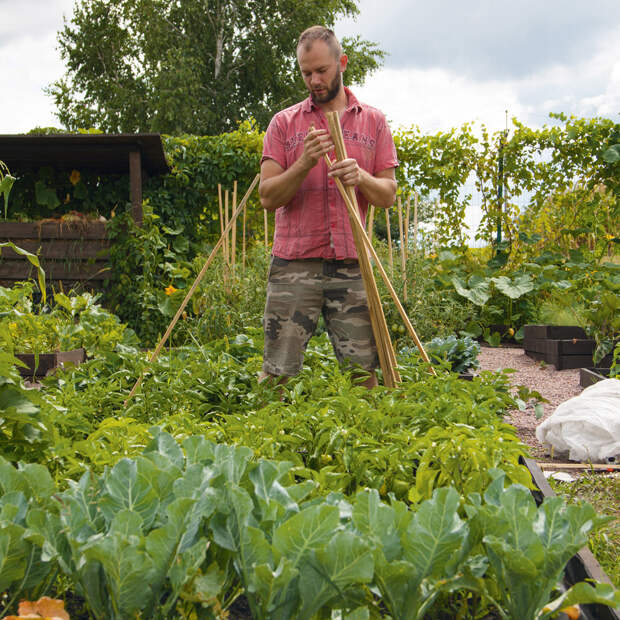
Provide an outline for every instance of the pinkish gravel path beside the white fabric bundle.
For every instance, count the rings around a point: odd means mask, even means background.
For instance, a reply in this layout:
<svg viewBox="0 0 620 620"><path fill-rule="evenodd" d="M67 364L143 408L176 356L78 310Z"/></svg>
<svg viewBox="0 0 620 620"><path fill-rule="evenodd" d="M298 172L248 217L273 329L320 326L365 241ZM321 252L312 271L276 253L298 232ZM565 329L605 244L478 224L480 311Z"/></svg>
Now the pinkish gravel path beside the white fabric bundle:
<svg viewBox="0 0 620 620"><path fill-rule="evenodd" d="M544 403L545 413L536 419L533 407L526 411L509 411L506 421L513 424L521 441L530 448L530 455L536 460L551 460L545 448L536 439L536 427L548 418L555 408L565 400L581 393L579 369L556 370L553 365L543 364L528 357L521 348L483 346L478 355L480 370L502 370L513 368L513 385L525 385L536 390L549 402Z"/></svg>

